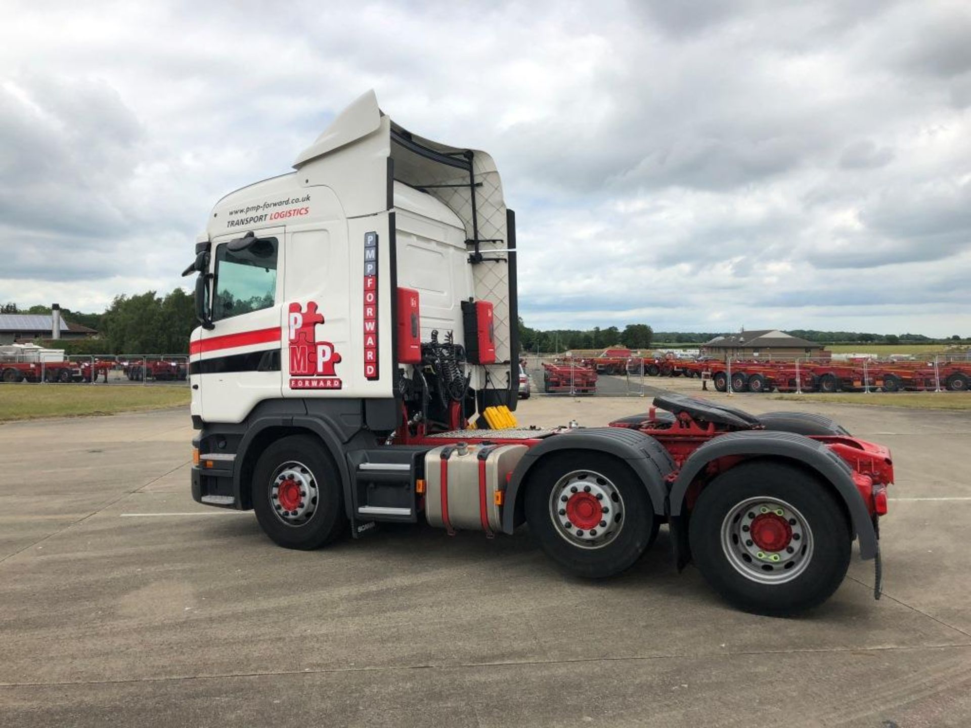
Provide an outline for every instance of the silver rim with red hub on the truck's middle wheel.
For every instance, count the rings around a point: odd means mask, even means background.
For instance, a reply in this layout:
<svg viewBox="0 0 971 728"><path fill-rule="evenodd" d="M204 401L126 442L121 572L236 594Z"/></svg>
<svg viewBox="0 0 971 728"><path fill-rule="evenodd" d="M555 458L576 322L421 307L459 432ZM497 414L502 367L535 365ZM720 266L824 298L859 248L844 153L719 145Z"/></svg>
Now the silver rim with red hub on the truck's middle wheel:
<svg viewBox="0 0 971 728"><path fill-rule="evenodd" d="M571 546L602 548L613 543L623 528L624 516L617 485L592 470L571 471L552 486L553 528Z"/></svg>

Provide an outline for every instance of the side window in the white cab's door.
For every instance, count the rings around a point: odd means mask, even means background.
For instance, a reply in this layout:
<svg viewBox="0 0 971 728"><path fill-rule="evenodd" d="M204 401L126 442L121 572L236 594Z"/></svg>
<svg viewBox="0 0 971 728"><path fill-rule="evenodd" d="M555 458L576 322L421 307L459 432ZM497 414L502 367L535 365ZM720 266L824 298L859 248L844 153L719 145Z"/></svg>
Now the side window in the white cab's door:
<svg viewBox="0 0 971 728"><path fill-rule="evenodd" d="M216 248L213 320L271 308L277 295L276 238L260 238L249 248Z"/></svg>

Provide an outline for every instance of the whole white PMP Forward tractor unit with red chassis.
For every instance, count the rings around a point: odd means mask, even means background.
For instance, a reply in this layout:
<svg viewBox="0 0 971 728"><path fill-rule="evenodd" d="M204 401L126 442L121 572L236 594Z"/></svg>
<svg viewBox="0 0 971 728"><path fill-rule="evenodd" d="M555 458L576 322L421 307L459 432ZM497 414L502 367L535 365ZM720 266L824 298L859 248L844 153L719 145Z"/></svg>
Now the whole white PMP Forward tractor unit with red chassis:
<svg viewBox="0 0 971 728"><path fill-rule="evenodd" d="M879 565L890 453L825 418L672 395L614 426L515 424L516 217L488 154L369 92L293 168L219 200L185 271L196 501L299 549L387 521L528 526L590 579L663 525L679 569L768 614L825 601L854 541Z"/></svg>

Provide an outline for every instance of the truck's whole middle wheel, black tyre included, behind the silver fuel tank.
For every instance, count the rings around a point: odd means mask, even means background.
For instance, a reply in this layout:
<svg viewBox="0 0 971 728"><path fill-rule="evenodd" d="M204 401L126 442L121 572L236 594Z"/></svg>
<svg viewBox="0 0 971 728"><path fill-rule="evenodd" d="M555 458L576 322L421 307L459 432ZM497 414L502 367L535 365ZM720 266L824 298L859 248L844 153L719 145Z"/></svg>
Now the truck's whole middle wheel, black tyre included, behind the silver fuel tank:
<svg viewBox="0 0 971 728"><path fill-rule="evenodd" d="M535 465L525 514L546 554L587 579L629 568L657 536L643 483L618 459L589 450L549 455Z"/></svg>

